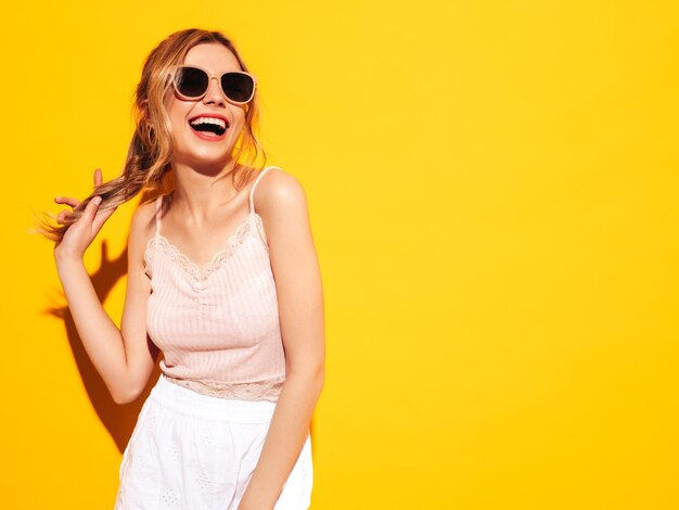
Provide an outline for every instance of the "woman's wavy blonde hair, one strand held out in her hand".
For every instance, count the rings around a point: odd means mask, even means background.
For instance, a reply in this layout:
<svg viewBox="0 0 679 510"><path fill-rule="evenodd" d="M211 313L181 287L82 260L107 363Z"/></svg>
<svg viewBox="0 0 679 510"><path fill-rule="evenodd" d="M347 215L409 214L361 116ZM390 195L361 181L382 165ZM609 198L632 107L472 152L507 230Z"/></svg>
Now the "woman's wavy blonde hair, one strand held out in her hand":
<svg viewBox="0 0 679 510"><path fill-rule="evenodd" d="M169 69L175 64L183 63L191 48L209 42L223 44L233 53L241 69L249 72L233 42L219 31L188 28L176 31L163 40L144 61L141 80L137 85L132 105L136 129L123 174L108 182L95 186L92 193L66 216L62 225L52 225L39 219L41 225L38 226L37 233L61 242L64 232L82 216L85 207L94 196L102 197L99 209L108 209L133 199L140 191L148 191L150 194L169 191L168 174L171 168L172 146L170 119L164 104L166 95L172 93ZM245 105L245 124L232 154L235 166L231 171L231 179L236 190L241 190L251 180L256 171L254 164L259 155L262 156L262 164L257 169L261 169L266 164L266 153L255 135L258 130L259 94L255 88L255 95ZM47 215L56 220L54 215L49 213Z"/></svg>

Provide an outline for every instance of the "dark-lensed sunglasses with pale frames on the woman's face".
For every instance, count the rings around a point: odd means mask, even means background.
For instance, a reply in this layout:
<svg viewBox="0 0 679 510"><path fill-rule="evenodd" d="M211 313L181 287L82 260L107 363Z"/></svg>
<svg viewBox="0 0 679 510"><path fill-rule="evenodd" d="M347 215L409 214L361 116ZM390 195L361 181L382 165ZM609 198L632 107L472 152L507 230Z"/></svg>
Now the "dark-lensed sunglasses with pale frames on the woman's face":
<svg viewBox="0 0 679 510"><path fill-rule="evenodd" d="M203 99L215 78L227 100L233 104L245 104L255 95L257 77L243 71L227 71L214 75L195 65L175 65L170 68L172 86L182 99L197 101Z"/></svg>

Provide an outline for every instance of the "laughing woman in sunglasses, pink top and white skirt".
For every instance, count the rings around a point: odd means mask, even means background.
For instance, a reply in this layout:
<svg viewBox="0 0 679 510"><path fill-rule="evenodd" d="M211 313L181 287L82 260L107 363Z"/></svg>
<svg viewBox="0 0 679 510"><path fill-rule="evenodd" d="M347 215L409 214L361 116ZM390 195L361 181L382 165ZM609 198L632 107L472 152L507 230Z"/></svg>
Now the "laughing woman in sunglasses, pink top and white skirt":
<svg viewBox="0 0 679 510"><path fill-rule="evenodd" d="M78 333L118 404L162 374L120 464L115 509L307 509L309 423L324 380L319 264L304 189L257 153L257 79L222 34L178 31L148 56L123 175L43 231ZM238 145L238 146L236 146ZM133 214L121 327L82 255Z"/></svg>

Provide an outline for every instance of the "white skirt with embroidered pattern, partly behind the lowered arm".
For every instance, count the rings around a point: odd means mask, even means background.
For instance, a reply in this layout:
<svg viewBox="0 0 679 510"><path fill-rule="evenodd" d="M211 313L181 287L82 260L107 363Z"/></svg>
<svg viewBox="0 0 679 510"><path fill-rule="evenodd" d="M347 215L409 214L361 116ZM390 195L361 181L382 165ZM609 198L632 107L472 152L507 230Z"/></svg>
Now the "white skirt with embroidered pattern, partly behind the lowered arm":
<svg viewBox="0 0 679 510"><path fill-rule="evenodd" d="M123 454L114 510L236 510L274 408L203 395L161 374ZM312 485L309 435L274 510L308 509Z"/></svg>

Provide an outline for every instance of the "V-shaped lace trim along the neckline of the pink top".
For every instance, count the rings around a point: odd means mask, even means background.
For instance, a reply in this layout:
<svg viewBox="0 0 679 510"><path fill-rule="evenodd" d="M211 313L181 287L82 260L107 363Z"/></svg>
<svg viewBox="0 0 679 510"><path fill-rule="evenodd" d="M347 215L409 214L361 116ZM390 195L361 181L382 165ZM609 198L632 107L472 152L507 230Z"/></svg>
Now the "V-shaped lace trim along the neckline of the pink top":
<svg viewBox="0 0 679 510"><path fill-rule="evenodd" d="M251 231L251 219L256 220L256 229L261 234L264 240L262 245L268 252L268 244L266 233L261 227L261 217L251 212L247 214L245 221L243 221L235 231L227 239L223 247L217 251L210 258L210 260L203 266L191 260L185 254L183 254L175 244L172 244L165 235L156 232L146 244L146 251L144 252L144 260L149 263L153 258L153 247L161 248L163 253L168 255L169 259L181 267L185 272L196 280L204 281L217 269L219 269L229 258L235 248L239 247ZM155 245L155 246L154 246Z"/></svg>

